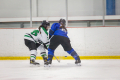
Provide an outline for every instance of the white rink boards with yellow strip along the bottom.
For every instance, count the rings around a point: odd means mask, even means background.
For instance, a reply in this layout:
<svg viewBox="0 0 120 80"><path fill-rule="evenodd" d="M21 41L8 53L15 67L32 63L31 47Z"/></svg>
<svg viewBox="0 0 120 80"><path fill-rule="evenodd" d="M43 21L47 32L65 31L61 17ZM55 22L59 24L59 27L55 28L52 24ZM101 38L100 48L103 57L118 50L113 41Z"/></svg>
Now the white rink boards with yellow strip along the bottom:
<svg viewBox="0 0 120 80"><path fill-rule="evenodd" d="M81 59L120 59L120 27L67 29L71 45ZM24 34L32 30L33 28L0 29L0 60L29 59L30 52L24 45ZM61 46L56 49L55 56L73 59ZM42 59L40 51L37 59Z"/></svg>

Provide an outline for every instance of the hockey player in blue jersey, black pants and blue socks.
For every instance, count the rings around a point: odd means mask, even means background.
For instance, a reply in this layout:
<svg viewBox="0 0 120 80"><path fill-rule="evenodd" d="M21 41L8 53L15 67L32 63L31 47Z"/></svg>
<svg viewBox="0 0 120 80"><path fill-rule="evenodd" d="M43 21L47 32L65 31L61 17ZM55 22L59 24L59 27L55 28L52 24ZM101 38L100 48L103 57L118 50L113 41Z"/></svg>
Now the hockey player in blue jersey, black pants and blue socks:
<svg viewBox="0 0 120 80"><path fill-rule="evenodd" d="M55 49L61 44L64 50L75 59L75 64L81 65L79 55L71 47L65 19L60 19L59 23L54 23L49 31L50 45L48 48L48 65L52 63Z"/></svg>

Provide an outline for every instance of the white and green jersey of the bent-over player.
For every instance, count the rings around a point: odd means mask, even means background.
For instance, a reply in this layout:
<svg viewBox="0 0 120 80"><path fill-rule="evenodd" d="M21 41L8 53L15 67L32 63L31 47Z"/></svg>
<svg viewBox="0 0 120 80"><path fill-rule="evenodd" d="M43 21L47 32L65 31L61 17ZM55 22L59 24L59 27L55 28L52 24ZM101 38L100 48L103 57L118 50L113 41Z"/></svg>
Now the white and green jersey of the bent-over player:
<svg viewBox="0 0 120 80"><path fill-rule="evenodd" d="M40 34L40 32L41 32L41 34ZM39 31L39 29L35 29L31 33L26 33L24 35L24 39L33 41L35 43L41 41L42 43L45 43L46 45L47 45L47 43L49 43L48 32L43 27L41 27L40 31Z"/></svg>

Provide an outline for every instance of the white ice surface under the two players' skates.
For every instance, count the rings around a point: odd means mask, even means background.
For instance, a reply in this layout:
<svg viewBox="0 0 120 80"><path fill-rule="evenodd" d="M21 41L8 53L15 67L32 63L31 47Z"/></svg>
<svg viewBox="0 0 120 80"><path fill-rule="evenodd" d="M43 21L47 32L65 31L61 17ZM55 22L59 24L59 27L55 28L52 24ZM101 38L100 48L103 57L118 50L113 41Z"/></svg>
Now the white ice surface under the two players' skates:
<svg viewBox="0 0 120 80"><path fill-rule="evenodd" d="M0 80L120 80L120 59L53 60L51 67L30 66L29 60L0 60Z"/></svg>

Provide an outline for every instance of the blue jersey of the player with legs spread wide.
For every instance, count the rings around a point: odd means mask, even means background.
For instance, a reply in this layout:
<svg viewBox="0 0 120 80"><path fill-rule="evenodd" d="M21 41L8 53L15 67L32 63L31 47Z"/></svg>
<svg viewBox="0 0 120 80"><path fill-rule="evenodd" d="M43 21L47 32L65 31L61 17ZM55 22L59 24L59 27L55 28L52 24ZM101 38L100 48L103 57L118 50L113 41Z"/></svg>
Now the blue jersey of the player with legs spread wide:
<svg viewBox="0 0 120 80"><path fill-rule="evenodd" d="M60 24L59 23L54 23L52 26L51 26L51 29L49 31L49 35L52 36L52 35L59 35L59 36L64 36L64 37L67 37L67 31L65 29L62 29L60 28Z"/></svg>

